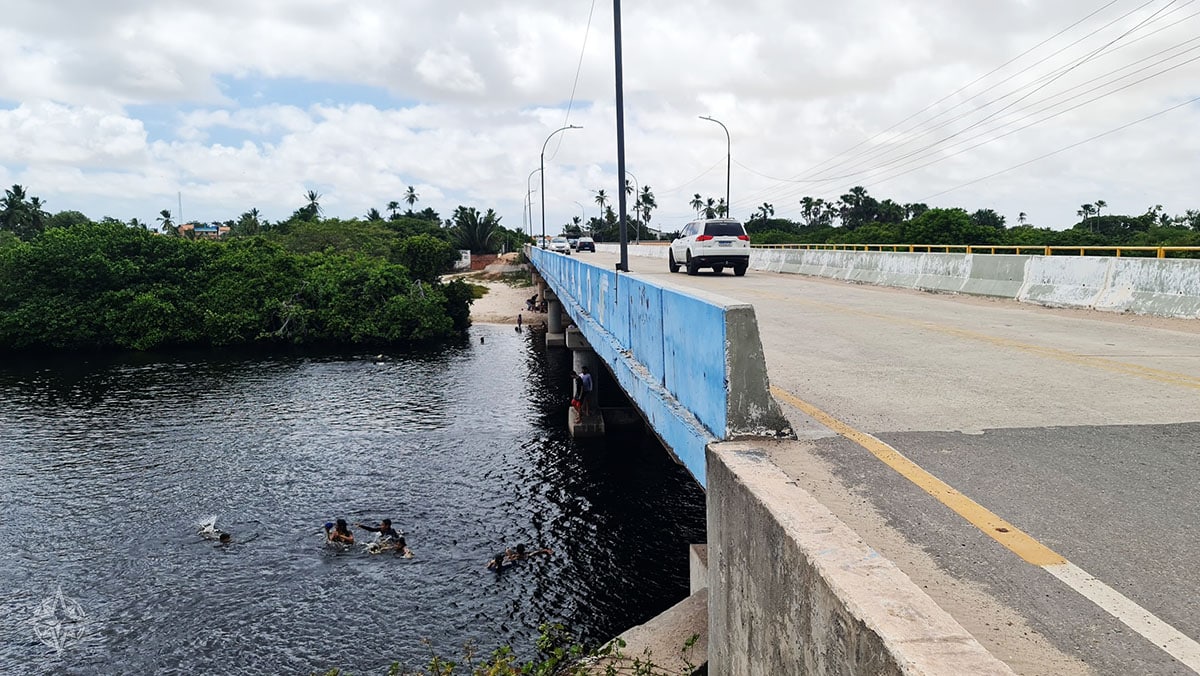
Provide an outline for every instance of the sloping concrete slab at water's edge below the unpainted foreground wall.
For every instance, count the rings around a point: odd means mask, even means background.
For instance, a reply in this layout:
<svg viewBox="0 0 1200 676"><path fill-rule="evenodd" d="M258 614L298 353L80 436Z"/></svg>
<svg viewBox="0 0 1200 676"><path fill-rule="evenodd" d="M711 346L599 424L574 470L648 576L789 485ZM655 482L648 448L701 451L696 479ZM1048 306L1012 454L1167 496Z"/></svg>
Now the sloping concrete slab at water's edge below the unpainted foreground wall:
<svg viewBox="0 0 1200 676"><path fill-rule="evenodd" d="M708 590L700 590L619 639L625 641L622 654L654 663L655 674L691 674L708 660ZM694 642L689 646L689 641ZM600 662L593 672L604 674L607 664L629 666L628 658Z"/></svg>

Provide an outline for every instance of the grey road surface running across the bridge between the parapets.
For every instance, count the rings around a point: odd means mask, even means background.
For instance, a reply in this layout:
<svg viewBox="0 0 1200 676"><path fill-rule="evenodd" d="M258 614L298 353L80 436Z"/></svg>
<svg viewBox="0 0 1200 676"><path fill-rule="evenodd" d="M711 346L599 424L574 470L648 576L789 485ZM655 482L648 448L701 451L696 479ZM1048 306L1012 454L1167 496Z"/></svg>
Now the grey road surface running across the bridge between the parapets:
<svg viewBox="0 0 1200 676"><path fill-rule="evenodd" d="M1200 321L630 269L755 306L775 462L1014 670L1200 670Z"/></svg>

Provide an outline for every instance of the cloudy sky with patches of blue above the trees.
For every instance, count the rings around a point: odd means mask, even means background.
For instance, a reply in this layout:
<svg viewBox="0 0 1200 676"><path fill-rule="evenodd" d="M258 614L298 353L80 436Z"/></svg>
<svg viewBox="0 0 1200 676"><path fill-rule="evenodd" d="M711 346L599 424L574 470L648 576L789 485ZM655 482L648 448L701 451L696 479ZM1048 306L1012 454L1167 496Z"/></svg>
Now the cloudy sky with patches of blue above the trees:
<svg viewBox="0 0 1200 676"><path fill-rule="evenodd" d="M617 191L607 0L0 0L0 185L152 222L402 199L547 232ZM622 7L625 157L677 229L803 196L1069 227L1200 209L1195 0L677 0ZM1122 128L1123 127L1123 128ZM535 231L540 193L533 195Z"/></svg>

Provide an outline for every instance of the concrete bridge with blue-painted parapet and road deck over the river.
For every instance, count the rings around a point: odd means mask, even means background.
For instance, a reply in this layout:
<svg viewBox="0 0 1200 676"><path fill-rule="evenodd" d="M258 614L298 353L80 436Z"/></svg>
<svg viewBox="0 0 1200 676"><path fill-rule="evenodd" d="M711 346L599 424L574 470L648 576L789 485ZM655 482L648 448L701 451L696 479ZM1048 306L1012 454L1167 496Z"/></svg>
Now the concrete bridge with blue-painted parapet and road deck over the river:
<svg viewBox="0 0 1200 676"><path fill-rule="evenodd" d="M1200 322L1009 300L1195 317L1200 264L530 253L706 485L712 672L1200 671Z"/></svg>

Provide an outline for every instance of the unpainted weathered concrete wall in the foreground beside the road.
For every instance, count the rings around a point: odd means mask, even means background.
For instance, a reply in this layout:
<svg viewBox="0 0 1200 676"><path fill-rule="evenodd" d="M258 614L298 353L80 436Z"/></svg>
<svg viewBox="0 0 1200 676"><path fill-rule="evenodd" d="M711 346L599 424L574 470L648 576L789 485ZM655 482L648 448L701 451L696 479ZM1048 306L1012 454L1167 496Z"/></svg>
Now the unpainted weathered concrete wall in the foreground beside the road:
<svg viewBox="0 0 1200 676"><path fill-rule="evenodd" d="M712 674L1013 674L764 453L708 463Z"/></svg>

